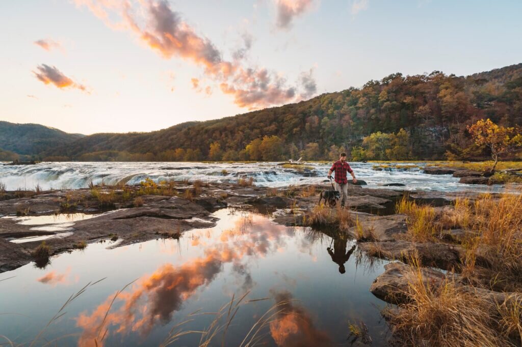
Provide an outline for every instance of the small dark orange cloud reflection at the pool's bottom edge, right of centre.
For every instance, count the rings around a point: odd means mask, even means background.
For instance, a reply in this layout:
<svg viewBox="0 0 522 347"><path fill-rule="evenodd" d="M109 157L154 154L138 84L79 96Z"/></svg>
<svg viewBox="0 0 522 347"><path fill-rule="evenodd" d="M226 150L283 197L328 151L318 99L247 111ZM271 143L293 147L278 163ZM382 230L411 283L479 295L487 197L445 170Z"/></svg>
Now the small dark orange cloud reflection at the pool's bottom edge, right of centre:
<svg viewBox="0 0 522 347"><path fill-rule="evenodd" d="M326 332L317 329L310 313L292 301L287 291L275 292L281 312L270 322L270 334L278 346L328 346L331 340Z"/></svg>

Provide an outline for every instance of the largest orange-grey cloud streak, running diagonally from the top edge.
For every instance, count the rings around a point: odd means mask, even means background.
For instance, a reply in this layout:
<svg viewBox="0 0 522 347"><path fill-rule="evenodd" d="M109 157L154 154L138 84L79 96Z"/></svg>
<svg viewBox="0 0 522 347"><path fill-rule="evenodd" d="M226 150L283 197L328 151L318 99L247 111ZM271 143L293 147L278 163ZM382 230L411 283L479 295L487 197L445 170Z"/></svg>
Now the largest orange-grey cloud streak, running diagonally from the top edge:
<svg viewBox="0 0 522 347"><path fill-rule="evenodd" d="M246 51L235 54L231 61L224 59L216 45L189 26L165 0L75 2L87 6L110 28L135 33L161 57L182 58L203 67L205 77L217 83L224 93L232 95L234 103L240 107L256 109L295 99L297 88L288 86L285 78L263 67L246 66ZM307 6L303 3L295 7L294 15ZM244 48L250 49L251 44L252 38L245 36Z"/></svg>

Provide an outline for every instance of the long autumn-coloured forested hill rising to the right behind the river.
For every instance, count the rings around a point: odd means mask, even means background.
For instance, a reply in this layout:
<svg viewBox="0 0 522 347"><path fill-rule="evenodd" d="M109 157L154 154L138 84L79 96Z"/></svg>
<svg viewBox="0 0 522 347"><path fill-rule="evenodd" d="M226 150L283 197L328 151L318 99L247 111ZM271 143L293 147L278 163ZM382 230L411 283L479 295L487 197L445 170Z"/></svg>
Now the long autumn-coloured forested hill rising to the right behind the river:
<svg viewBox="0 0 522 347"><path fill-rule="evenodd" d="M89 135L42 155L75 160L278 160L300 155L322 159L344 149L359 159L464 158L480 154L470 146L466 126L481 118L505 126L522 124L522 64L467 77L441 71L394 73L360 89L238 116L150 133Z"/></svg>

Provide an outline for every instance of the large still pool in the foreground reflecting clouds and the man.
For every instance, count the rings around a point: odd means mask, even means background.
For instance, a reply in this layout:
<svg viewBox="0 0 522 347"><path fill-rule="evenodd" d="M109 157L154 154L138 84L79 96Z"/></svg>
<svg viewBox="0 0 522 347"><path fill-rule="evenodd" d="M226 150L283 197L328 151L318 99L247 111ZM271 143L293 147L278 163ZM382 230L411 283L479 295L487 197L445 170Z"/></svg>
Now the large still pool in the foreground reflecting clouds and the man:
<svg viewBox="0 0 522 347"><path fill-rule="evenodd" d="M222 209L213 216L217 226L185 232L179 240L110 250L108 243L94 243L53 257L44 269L30 264L0 274L0 334L15 344L31 341L71 294L105 278L67 305L40 342L62 338L63 345L93 345L102 327L100 346L160 345L176 324L190 320L173 331L209 327L232 296L248 293L224 345L240 345L278 304L284 309L256 335L259 344L346 345L348 323L355 320L366 324L373 345L386 344L379 311L385 303L369 292L386 262L366 258L335 233L276 225L251 211ZM1 314L10 312L16 315ZM222 332L211 345L221 345ZM200 334L191 333L176 345L199 341Z"/></svg>

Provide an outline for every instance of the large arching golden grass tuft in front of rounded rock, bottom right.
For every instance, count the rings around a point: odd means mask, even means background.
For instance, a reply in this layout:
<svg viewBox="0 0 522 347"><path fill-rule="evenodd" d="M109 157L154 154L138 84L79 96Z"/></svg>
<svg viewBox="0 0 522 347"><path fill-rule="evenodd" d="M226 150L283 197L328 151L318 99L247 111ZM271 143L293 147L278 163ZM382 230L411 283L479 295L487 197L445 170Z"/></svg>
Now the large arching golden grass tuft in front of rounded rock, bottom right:
<svg viewBox="0 0 522 347"><path fill-rule="evenodd" d="M495 331L487 299L449 279L432 286L423 278L418 261L407 275L407 290L397 293L406 296L407 303L385 309L394 338L402 345L505 345Z"/></svg>

